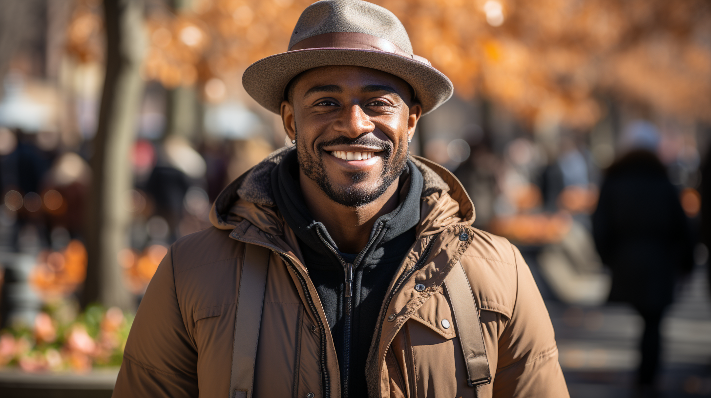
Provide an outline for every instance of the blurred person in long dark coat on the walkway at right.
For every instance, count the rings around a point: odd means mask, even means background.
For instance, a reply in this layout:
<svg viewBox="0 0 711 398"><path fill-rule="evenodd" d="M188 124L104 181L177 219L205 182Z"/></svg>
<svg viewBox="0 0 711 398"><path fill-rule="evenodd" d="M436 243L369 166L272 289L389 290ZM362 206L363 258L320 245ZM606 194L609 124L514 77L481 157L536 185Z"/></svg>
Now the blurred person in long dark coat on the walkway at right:
<svg viewBox="0 0 711 398"><path fill-rule="evenodd" d="M638 383L653 384L665 308L678 276L693 267L687 217L655 154L636 149L610 166L592 226L602 262L612 271L609 301L631 304L644 320Z"/></svg>

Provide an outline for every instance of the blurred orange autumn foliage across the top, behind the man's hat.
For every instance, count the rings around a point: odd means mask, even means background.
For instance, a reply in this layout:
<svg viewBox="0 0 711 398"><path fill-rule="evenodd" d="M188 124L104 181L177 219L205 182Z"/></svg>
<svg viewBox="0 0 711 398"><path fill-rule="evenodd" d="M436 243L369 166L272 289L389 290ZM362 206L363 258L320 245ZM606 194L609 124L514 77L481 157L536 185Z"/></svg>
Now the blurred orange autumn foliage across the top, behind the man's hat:
<svg viewBox="0 0 711 398"><path fill-rule="evenodd" d="M95 19L79 11L69 50L90 58ZM311 0L193 0L147 17L144 75L166 87L239 74L287 48ZM400 18L415 53L532 124L590 127L600 99L711 120L711 4L704 0L374 0ZM85 40L87 45L80 44Z"/></svg>

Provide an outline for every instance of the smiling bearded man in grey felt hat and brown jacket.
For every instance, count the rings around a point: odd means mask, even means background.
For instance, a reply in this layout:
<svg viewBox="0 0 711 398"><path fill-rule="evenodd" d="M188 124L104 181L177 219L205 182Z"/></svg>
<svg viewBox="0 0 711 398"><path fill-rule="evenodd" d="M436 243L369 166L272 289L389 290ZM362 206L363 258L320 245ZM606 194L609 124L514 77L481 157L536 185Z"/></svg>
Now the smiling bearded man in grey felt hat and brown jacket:
<svg viewBox="0 0 711 398"><path fill-rule="evenodd" d="M471 227L451 173L409 156L452 86L390 11L319 1L242 82L296 149L173 244L114 397L568 396L520 253Z"/></svg>

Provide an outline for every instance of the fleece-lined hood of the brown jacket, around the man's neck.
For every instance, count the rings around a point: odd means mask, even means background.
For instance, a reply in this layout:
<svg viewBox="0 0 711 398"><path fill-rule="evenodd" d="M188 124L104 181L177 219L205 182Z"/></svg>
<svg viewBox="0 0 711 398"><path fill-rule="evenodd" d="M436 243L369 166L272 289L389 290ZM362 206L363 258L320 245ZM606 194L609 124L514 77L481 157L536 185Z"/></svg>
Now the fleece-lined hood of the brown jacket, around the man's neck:
<svg viewBox="0 0 711 398"><path fill-rule="evenodd" d="M270 235L293 235L279 214L271 183L272 170L292 150L293 147L277 149L227 185L210 209L210 222L220 230L232 230L247 220ZM424 179L417 235L433 235L456 223L470 226L474 222L474 204L454 175L425 158L410 156L410 160ZM286 240L291 243L292 239L287 236Z"/></svg>

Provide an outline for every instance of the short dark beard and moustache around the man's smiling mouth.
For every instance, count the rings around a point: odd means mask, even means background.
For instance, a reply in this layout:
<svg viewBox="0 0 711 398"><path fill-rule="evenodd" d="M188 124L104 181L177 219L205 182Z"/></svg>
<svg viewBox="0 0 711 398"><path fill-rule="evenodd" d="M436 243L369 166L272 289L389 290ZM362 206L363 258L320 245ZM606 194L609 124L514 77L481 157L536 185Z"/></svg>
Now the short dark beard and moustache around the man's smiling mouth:
<svg viewBox="0 0 711 398"><path fill-rule="evenodd" d="M296 131L298 134L298 131ZM331 181L326 174L323 156L325 152L323 148L329 145L365 145L375 146L382 149L380 152L380 160L383 162L383 171L378 176L378 185L375 188L361 188L358 186L363 178L368 177L365 172L350 173L351 185L341 187ZM319 185L324 193L334 202L357 208L362 205L367 205L373 200L380 198L387 188L400 177L405 167L407 166L407 156L410 154L410 148L407 146L406 139L402 139L399 143L397 152L393 153L393 145L390 141L383 141L373 136L360 136L355 139L349 139L345 136L340 136L331 141L321 142L316 145L316 154L310 154L306 143L296 139L296 156L299 159L299 167L301 171L312 181Z"/></svg>

